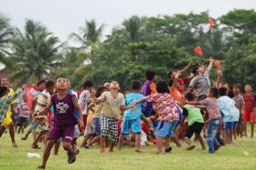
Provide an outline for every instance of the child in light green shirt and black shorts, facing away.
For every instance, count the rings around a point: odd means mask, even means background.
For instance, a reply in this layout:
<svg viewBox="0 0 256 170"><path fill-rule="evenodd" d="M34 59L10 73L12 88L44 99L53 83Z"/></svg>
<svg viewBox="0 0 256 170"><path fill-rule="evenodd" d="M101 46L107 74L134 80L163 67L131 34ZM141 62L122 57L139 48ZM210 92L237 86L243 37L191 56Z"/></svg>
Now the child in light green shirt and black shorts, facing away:
<svg viewBox="0 0 256 170"><path fill-rule="evenodd" d="M193 93L187 93L185 97L187 99L187 102L195 101L195 95ZM203 113L204 112L200 108L197 108L194 105L184 105L184 108L183 108L184 118L182 120L182 123L187 117L188 129L185 135L185 142L188 145L187 150L192 150L196 147L196 145L192 145L190 141L190 138L194 134L196 134L196 137L199 140L200 145L202 146L202 149L203 150L206 149L204 140L200 135L202 128L204 126L204 119L202 116Z"/></svg>

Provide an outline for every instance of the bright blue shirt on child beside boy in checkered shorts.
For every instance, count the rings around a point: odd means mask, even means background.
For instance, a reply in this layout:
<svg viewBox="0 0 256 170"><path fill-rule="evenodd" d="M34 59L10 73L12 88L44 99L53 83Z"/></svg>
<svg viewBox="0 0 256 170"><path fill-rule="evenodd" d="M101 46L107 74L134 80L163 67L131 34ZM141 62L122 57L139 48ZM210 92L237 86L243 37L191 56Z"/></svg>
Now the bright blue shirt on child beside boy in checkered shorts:
<svg viewBox="0 0 256 170"><path fill-rule="evenodd" d="M139 93L131 93L131 94L126 96L125 105L133 105L133 102L135 100L139 100L141 98L144 98L144 95L141 95ZM145 102L144 102L144 103L136 105L136 110L135 111L132 111L130 109L125 110L124 118L126 118L126 119L137 119L138 117L141 116L142 109L145 106L146 105L145 105Z"/></svg>

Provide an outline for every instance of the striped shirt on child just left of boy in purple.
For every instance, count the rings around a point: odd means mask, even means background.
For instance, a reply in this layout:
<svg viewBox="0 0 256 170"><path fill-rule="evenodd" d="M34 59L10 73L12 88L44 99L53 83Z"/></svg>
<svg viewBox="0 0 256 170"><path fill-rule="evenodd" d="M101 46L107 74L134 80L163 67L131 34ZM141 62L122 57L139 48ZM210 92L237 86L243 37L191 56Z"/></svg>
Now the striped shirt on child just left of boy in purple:
<svg viewBox="0 0 256 170"><path fill-rule="evenodd" d="M50 95L48 91L44 90L39 95L37 95L37 105L35 107L35 112L38 113L42 111L50 102Z"/></svg>

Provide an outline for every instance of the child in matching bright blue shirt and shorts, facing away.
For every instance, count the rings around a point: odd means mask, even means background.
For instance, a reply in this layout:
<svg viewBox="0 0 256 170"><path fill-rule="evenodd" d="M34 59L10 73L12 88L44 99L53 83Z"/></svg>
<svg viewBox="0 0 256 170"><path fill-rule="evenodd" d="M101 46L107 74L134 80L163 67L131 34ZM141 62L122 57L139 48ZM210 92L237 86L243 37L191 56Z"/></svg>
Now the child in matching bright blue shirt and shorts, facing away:
<svg viewBox="0 0 256 170"><path fill-rule="evenodd" d="M132 90L133 92L126 95L125 105L133 105L133 102L144 98L144 95L140 94L141 84L138 80L133 80ZM126 110L123 116L123 124L121 134L119 136L118 149L121 150L123 146L123 139L125 135L129 135L129 129L132 128L133 134L135 134L135 151L141 152L141 113L145 102L142 104L135 105L136 110Z"/></svg>

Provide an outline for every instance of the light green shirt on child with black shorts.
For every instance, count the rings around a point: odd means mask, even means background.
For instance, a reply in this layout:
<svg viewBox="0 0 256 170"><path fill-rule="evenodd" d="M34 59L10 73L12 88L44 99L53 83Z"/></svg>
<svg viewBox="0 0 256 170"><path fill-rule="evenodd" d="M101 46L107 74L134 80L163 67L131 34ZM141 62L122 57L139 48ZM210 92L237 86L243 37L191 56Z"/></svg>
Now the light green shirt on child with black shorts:
<svg viewBox="0 0 256 170"><path fill-rule="evenodd" d="M201 109L195 107L194 105L185 105L183 115L187 116L188 125L192 125L195 122L204 123Z"/></svg>

